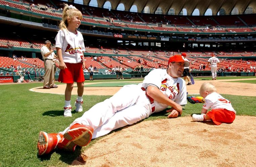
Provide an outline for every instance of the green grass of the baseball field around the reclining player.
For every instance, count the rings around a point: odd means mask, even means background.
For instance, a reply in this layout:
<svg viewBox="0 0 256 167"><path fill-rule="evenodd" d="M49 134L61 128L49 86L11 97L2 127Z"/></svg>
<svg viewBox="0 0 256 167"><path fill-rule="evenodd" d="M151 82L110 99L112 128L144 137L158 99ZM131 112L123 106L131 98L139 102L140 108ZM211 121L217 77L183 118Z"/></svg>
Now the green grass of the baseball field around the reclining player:
<svg viewBox="0 0 256 167"><path fill-rule="evenodd" d="M225 77L232 79L233 77ZM236 77L237 78L237 77ZM243 77L245 78L245 77ZM254 77L255 78L255 77ZM204 78L205 79L205 78ZM222 79L222 77L218 77ZM120 80L93 80L93 82L116 82ZM142 81L142 79L125 79L125 82ZM72 112L73 117L63 117L64 95L54 95L31 92L29 89L41 87L40 83L0 85L1 104L0 112L0 166L68 166L80 153L97 143L97 138L82 150L76 149L75 153L55 151L52 154L38 157L37 140L39 131L56 133L64 130L82 113ZM189 95L193 96L193 95ZM110 96L84 96L83 109L87 111L94 104L101 102ZM230 100L237 115L256 116L256 97L223 95ZM72 104L76 96L72 96ZM86 103L90 101L89 103ZM182 116L200 113L203 104L188 103ZM145 119L166 119L165 111L153 114Z"/></svg>

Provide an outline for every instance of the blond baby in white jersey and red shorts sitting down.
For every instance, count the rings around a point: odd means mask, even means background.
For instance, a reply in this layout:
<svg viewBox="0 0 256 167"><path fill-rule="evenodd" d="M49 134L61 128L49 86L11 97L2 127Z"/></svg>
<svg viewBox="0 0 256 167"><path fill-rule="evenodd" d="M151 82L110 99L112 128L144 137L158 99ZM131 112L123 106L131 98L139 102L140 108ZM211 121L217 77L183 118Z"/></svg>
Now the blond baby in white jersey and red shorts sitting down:
<svg viewBox="0 0 256 167"><path fill-rule="evenodd" d="M193 114L193 121L212 120L216 125L221 123L232 123L236 118L236 111L231 103L219 95L216 88L208 82L200 87L200 95L205 98L201 115ZM207 112L211 108L211 111Z"/></svg>

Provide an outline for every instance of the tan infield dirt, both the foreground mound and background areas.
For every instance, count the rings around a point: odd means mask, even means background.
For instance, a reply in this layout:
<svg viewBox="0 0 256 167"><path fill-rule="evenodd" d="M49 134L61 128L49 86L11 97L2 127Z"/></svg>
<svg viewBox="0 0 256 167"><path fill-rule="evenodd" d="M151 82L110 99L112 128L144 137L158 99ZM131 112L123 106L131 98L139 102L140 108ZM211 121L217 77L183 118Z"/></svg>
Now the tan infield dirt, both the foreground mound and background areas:
<svg viewBox="0 0 256 167"><path fill-rule="evenodd" d="M196 80L195 85L187 86L187 92L198 94L203 82L211 82L220 94L255 96L256 84L226 82L231 80L240 79ZM32 91L64 94L65 87ZM84 95L113 95L120 88L86 87ZM249 116L237 116L232 124L219 126L193 122L191 117L142 121L106 135L71 165L256 166L255 127L256 117Z"/></svg>

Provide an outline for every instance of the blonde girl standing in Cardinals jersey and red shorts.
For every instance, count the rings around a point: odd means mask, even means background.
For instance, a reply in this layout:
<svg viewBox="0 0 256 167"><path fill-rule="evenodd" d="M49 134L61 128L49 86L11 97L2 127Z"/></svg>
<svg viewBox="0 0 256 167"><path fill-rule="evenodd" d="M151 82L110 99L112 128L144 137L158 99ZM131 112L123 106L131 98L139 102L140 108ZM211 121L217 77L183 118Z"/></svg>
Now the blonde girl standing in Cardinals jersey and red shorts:
<svg viewBox="0 0 256 167"><path fill-rule="evenodd" d="M72 117L71 92L74 82L77 82L76 112L83 111L84 92L84 39L77 31L81 24L82 13L74 6L64 4L60 30L55 37L55 47L59 56L59 82L67 83L65 90L64 117Z"/></svg>

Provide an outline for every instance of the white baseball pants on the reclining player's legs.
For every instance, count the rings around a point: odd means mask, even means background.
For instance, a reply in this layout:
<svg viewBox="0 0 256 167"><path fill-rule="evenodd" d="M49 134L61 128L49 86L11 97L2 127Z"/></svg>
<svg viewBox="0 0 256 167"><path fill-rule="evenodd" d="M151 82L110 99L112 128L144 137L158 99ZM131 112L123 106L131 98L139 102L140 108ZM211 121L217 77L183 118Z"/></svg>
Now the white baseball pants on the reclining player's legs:
<svg viewBox="0 0 256 167"><path fill-rule="evenodd" d="M67 129L76 123L89 125L94 129L92 139L104 136L112 130L134 124L151 115L150 101L138 85L127 85L114 96L94 105L77 118Z"/></svg>

